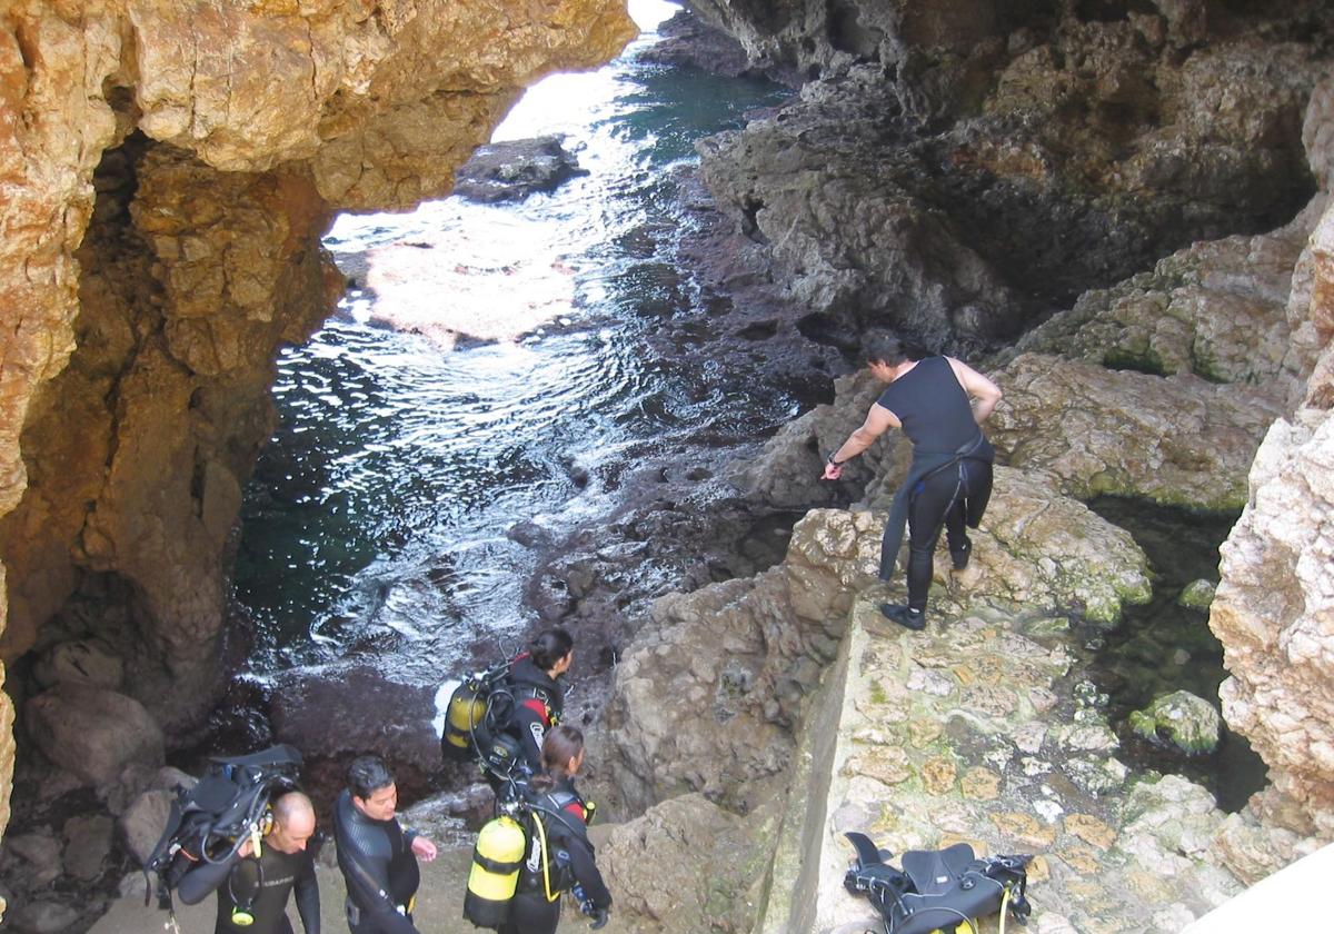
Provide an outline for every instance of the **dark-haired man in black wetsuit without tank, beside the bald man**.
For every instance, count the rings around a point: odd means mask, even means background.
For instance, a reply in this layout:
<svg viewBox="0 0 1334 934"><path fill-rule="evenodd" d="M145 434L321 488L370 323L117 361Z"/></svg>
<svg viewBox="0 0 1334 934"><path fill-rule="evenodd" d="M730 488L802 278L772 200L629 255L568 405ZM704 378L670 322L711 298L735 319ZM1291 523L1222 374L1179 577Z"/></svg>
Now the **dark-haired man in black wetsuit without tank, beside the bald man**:
<svg viewBox="0 0 1334 934"><path fill-rule="evenodd" d="M435 859L435 843L399 826L399 789L378 755L363 755L347 771L334 802L338 867L347 882L347 926L352 934L418 934L412 903L422 882L418 858Z"/></svg>

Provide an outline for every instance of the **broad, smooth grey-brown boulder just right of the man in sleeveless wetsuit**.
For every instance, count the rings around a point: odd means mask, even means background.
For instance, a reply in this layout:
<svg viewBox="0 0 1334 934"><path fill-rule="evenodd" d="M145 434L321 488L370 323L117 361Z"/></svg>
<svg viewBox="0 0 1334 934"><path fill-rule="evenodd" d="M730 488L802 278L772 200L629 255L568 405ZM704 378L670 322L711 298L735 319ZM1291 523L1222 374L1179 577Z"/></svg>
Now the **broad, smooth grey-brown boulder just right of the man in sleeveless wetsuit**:
<svg viewBox="0 0 1334 934"><path fill-rule="evenodd" d="M1283 411L1246 386L1038 355L1019 356L996 380L1006 394L987 422L996 450L1014 466L1051 471L1082 498L1237 508L1255 448Z"/></svg>

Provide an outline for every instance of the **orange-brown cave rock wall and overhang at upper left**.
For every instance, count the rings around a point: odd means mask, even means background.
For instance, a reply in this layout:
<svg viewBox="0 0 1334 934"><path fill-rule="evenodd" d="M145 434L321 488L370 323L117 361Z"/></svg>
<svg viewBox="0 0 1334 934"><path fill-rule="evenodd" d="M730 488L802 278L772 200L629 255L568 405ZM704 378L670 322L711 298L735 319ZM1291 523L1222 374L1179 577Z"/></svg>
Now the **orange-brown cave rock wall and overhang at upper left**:
<svg viewBox="0 0 1334 934"><path fill-rule="evenodd" d="M524 85L632 35L615 0L7 4L0 659L101 624L127 691L197 718L276 350L340 288L332 212L443 196Z"/></svg>

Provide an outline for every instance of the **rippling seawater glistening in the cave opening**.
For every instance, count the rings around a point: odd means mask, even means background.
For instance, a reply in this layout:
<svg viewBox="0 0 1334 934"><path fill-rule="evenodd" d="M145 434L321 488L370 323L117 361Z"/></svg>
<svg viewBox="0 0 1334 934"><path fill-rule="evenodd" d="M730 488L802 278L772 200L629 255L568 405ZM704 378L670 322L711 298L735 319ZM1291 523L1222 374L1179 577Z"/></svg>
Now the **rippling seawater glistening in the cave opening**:
<svg viewBox="0 0 1334 934"><path fill-rule="evenodd" d="M496 129L492 141L563 133L586 177L518 205L450 197L334 224L325 246L354 287L281 352L280 424L241 508L233 595L256 628L249 674L359 654L439 680L460 646L511 646L530 622L534 558L507 538L515 523L559 538L615 503L607 464L702 431L754 439L795 414L783 387L724 379L726 362L647 351L662 316L699 312L670 259L688 223L675 169L696 140L790 93L638 61L675 11L631 3L644 31L620 59L546 79ZM422 320L423 304L452 303L479 323L528 323L499 339L464 331L452 348L386 326L394 310L356 271L419 240L459 288L398 311Z"/></svg>

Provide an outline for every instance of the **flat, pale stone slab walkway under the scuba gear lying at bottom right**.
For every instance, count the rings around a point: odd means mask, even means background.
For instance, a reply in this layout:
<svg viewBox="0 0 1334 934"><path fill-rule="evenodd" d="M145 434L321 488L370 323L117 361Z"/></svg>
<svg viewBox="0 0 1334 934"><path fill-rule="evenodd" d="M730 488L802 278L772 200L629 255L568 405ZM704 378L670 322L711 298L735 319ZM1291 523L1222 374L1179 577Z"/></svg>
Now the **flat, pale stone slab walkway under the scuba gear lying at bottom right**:
<svg viewBox="0 0 1334 934"><path fill-rule="evenodd" d="M1045 622L979 602L907 632L874 599L856 603L842 690L803 747L815 759L810 794L792 795L811 802L806 865L775 878L792 897L771 905L763 930L875 923L842 887L847 831L895 854L956 842L1033 854L1034 934L1179 930L1241 890L1206 857L1223 821L1213 798L1177 777L1127 779L1094 702L1062 686L1071 658ZM784 837L796 843L794 830Z"/></svg>

